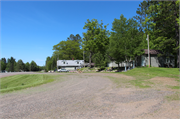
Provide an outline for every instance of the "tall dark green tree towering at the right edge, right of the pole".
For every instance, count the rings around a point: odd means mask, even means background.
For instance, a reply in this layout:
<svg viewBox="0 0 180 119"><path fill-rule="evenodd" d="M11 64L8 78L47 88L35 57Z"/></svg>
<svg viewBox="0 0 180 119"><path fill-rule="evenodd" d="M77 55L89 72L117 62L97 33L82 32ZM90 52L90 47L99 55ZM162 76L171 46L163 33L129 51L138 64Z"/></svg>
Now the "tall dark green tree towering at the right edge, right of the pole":
<svg viewBox="0 0 180 119"><path fill-rule="evenodd" d="M146 22L154 32L155 48L166 57L176 55L179 63L179 1L149 1Z"/></svg>

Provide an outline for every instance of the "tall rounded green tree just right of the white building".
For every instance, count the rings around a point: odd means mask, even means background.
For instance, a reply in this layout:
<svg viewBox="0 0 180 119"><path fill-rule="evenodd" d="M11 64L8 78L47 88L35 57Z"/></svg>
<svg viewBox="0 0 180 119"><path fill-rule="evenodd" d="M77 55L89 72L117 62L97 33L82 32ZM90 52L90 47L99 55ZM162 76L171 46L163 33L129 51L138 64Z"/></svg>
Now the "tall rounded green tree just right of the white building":
<svg viewBox="0 0 180 119"><path fill-rule="evenodd" d="M89 53L89 66L90 67L91 67L93 54L100 53L102 54L101 58L104 59L104 55L106 53L106 49L109 44L109 36L108 36L109 32L106 30L106 27L107 25L103 26L102 22L101 24L99 24L97 19L92 19L91 21L87 19L87 22L85 23L83 27L83 29L87 30L86 33L83 33L83 36L84 36L83 49L87 53Z"/></svg>

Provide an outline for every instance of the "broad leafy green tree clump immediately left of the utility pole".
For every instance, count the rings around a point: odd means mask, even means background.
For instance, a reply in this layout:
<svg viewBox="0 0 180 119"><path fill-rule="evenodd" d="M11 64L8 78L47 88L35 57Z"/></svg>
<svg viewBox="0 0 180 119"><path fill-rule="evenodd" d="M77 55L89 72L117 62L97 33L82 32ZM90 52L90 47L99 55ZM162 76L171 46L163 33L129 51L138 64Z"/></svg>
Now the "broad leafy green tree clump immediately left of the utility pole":
<svg viewBox="0 0 180 119"><path fill-rule="evenodd" d="M120 19L114 19L110 37L108 54L111 60L119 62L136 60L143 51L143 40L138 31L138 23L134 19L126 19L123 15Z"/></svg>

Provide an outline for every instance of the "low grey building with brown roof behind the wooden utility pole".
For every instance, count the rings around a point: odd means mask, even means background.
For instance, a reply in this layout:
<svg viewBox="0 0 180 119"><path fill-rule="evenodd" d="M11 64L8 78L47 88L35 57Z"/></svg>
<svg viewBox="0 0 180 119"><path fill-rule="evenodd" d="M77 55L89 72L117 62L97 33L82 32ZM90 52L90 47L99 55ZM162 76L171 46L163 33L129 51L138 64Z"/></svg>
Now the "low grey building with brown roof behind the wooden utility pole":
<svg viewBox="0 0 180 119"><path fill-rule="evenodd" d="M148 49L143 49L144 54L137 58L136 66L147 66L148 65ZM174 56L166 58L165 56L158 57L158 54L163 54L160 50L149 50L150 55L150 65L152 67L167 67L169 63L170 67L174 67L175 59Z"/></svg>

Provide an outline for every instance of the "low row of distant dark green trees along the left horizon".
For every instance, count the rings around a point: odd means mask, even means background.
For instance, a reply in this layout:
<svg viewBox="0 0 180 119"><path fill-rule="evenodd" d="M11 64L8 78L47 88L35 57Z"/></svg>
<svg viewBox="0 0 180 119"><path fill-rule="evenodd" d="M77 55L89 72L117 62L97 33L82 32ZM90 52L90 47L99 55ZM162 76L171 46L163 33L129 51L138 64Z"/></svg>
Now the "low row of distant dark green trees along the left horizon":
<svg viewBox="0 0 180 119"><path fill-rule="evenodd" d="M1 58L1 71L8 72L20 72L20 71L41 71L45 69L44 66L38 66L35 61L30 63L24 63L21 59L17 62L15 58L11 57L6 60L6 58Z"/></svg>

